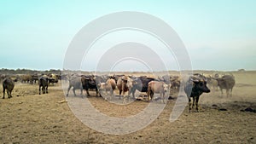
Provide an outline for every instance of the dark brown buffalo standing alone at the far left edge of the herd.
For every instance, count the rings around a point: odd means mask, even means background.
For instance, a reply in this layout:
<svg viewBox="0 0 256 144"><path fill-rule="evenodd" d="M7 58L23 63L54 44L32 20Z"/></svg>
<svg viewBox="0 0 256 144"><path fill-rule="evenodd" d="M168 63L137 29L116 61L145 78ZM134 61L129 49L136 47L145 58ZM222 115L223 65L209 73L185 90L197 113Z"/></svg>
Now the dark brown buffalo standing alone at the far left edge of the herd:
<svg viewBox="0 0 256 144"><path fill-rule="evenodd" d="M5 95L5 89L7 90L8 98L12 97L12 91L15 88L15 82L11 78L3 79L3 99Z"/></svg>

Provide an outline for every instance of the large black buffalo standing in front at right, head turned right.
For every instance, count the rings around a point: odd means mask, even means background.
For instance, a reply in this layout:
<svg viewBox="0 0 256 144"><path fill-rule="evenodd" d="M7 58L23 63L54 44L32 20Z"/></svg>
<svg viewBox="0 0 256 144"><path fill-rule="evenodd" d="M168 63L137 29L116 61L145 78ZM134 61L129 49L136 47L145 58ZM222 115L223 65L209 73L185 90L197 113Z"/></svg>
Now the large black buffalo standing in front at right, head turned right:
<svg viewBox="0 0 256 144"><path fill-rule="evenodd" d="M207 88L207 81L205 78L191 76L184 87L184 91L189 99L189 112L191 111L191 108L194 106L196 111L198 112L198 101L200 95L202 93L209 93L210 89ZM191 103L191 98L193 98L193 105Z"/></svg>

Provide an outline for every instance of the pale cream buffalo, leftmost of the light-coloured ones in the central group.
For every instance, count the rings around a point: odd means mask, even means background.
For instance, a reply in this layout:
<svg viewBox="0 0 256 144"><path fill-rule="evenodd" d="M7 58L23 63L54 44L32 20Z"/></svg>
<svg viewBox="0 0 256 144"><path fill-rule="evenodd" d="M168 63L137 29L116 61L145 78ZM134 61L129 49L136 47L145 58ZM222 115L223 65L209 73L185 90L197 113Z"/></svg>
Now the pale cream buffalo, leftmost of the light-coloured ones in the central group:
<svg viewBox="0 0 256 144"><path fill-rule="evenodd" d="M102 94L102 90L105 90L105 92L106 92L105 100L107 100L107 97L108 97L107 91L109 91L110 92L110 97L112 99L113 98L113 90L115 89L115 87L116 87L115 80L114 79L108 79L106 83L101 83L100 84L99 91Z"/></svg>

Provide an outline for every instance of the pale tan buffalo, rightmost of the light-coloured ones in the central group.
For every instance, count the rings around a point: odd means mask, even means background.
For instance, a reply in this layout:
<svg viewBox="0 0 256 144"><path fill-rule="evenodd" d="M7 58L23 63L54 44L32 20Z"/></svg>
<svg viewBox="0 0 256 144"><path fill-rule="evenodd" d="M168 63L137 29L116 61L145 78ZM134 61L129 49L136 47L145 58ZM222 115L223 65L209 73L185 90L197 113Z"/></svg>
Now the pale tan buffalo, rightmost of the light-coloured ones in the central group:
<svg viewBox="0 0 256 144"><path fill-rule="evenodd" d="M151 81L148 83L148 101L149 96L151 101L153 101L154 93L162 95L163 103L165 103L165 94L169 90L169 85L164 82Z"/></svg>

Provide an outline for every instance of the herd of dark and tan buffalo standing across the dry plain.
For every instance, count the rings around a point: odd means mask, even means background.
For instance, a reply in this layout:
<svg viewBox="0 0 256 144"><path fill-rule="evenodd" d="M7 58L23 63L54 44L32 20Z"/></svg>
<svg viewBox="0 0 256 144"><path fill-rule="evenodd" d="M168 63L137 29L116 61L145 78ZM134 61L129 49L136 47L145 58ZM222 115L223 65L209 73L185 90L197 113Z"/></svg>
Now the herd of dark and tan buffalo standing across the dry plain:
<svg viewBox="0 0 256 144"><path fill-rule="evenodd" d="M83 97L83 90L86 91L86 95L90 96L89 90L95 89L96 96L102 96L105 92L104 97L107 99L113 99L114 89L119 90L119 98L123 97L123 102L125 99L130 99L130 95L133 99L136 99L135 92L147 93L148 101L153 101L154 94L160 94L162 96L162 101L165 103L165 96L171 94L170 91L175 91L176 89L183 89L189 99L189 112L192 107L198 111L198 101L202 93L209 93L212 90L221 90L223 94L223 89L226 89L226 95L232 95L232 89L235 85L235 77L230 74L226 75L208 75L195 73L188 78L181 78L179 76L161 76L158 78L149 78L147 76L126 76L126 75L78 75L78 74L68 74L68 75L57 75L57 74L47 74L47 75L21 75L19 77L14 76L3 76L1 75L0 81L3 82L3 99L5 97L5 90L7 91L8 97L12 97L12 90L15 88L15 82L20 81L21 83L36 84L38 83L39 95L41 91L43 94L48 93L48 85L58 83L58 81L65 80L68 81L67 95L69 95L69 90L73 88L73 95L76 95L75 90L80 90L80 95ZM109 95L108 95L109 92ZM128 92L125 95L125 92ZM192 102L193 100L193 102Z"/></svg>

